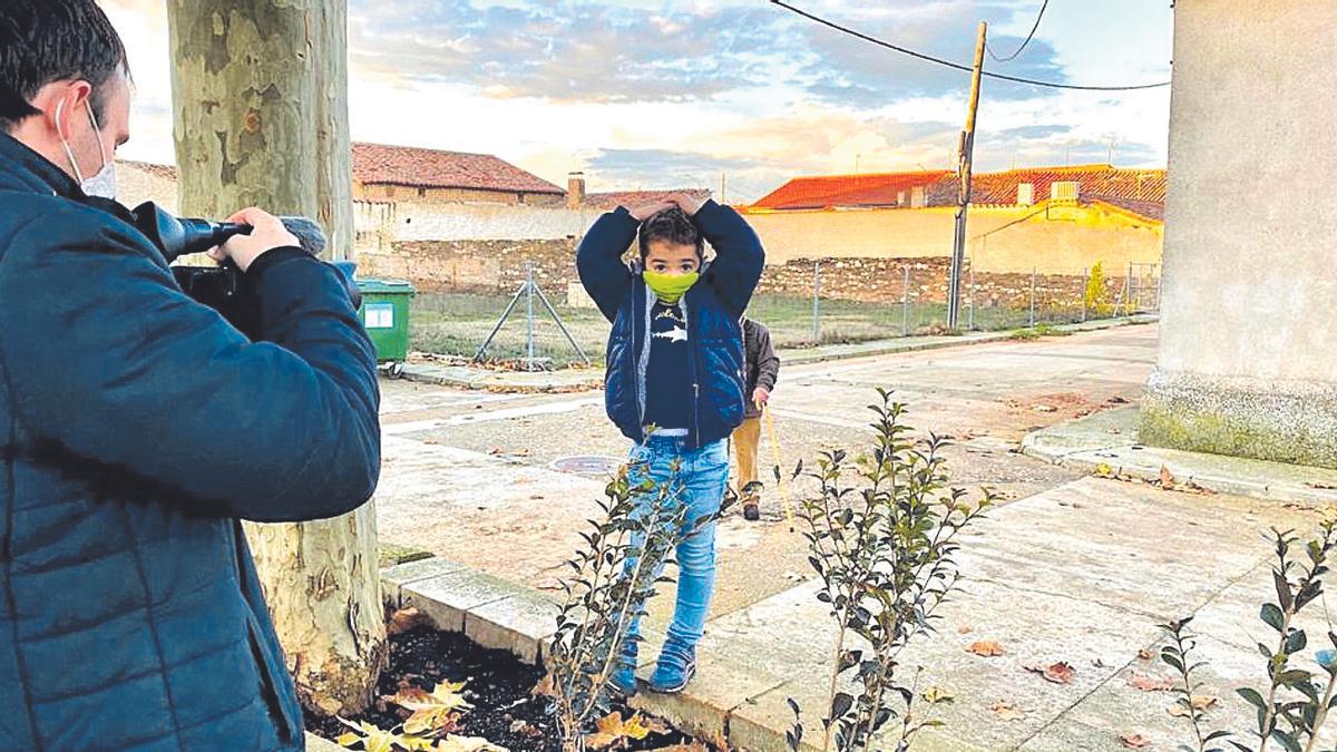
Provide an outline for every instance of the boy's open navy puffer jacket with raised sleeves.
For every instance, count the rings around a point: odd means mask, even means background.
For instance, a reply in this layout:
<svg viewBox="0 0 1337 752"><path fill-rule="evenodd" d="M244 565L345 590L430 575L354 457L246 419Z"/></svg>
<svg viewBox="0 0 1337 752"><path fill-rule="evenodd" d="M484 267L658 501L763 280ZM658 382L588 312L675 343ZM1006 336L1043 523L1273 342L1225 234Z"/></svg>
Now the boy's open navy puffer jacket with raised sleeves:
<svg viewBox="0 0 1337 752"><path fill-rule="evenodd" d="M743 421L743 340L739 317L761 280L766 253L757 233L727 206L707 201L693 221L715 249L701 281L683 296L694 392L689 447L723 439ZM600 217L576 250L580 282L612 321L604 405L624 436L644 440L646 367L654 296L639 264L622 262L640 223L626 209Z"/></svg>

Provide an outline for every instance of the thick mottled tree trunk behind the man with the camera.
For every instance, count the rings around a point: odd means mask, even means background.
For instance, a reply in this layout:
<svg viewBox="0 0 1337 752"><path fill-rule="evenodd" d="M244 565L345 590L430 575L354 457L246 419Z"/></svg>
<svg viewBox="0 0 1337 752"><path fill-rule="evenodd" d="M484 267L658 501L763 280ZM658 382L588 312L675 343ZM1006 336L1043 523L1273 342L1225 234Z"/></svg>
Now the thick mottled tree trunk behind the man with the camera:
<svg viewBox="0 0 1337 752"><path fill-rule="evenodd" d="M352 250L346 0L168 0L182 214L320 219ZM385 658L373 504L246 526L302 702L356 713Z"/></svg>

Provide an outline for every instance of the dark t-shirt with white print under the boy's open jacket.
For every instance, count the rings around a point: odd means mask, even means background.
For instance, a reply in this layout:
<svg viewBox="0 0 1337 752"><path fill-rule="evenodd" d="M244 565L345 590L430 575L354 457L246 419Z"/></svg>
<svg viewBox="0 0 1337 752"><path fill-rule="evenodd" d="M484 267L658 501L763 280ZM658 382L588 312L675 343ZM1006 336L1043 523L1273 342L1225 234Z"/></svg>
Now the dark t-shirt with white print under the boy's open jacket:
<svg viewBox="0 0 1337 752"><path fill-rule="evenodd" d="M659 428L687 428L691 424L693 409L687 320L679 305L655 301L650 310L646 424Z"/></svg>

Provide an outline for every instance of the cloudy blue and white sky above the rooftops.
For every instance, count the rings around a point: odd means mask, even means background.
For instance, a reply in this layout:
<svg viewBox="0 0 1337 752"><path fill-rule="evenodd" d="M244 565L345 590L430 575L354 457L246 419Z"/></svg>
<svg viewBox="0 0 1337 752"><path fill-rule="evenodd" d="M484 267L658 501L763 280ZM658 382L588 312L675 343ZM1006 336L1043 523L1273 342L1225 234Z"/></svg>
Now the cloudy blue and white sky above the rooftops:
<svg viewBox="0 0 1337 752"><path fill-rule="evenodd" d="M969 64L1009 55L1042 0L792 0ZM103 0L135 72L130 159L172 162L164 0ZM794 175L955 166L969 75L767 0L349 0L356 140L496 154L591 190L711 187L751 201ZM1169 0L1051 0L985 70L1074 84L1169 80ZM1169 88L1056 91L985 79L976 169L1165 166Z"/></svg>

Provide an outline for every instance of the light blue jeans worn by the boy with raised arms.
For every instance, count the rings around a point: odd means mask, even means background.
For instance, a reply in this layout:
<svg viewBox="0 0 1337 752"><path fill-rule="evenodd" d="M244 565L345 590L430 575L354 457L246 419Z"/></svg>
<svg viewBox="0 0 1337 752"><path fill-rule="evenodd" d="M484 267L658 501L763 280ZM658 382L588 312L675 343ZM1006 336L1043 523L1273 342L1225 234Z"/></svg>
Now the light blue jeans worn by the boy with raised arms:
<svg viewBox="0 0 1337 752"><path fill-rule="evenodd" d="M651 435L643 444L631 448L630 480L632 486L647 478L655 490L636 498L632 514L644 514L664 484L675 503L686 504L685 527L697 519L719 511L729 483L729 444L721 439L699 450L687 450L678 436ZM673 464L678 462L674 471ZM632 542L640 545L642 537ZM635 562L627 562L628 567ZM658 577L659 573L655 573ZM678 545L678 603L668 625L668 641L685 648L695 646L706 629L710 597L715 590L715 523L697 530ZM639 610L639 609L638 609ZM640 636L640 617L631 620L627 634Z"/></svg>

